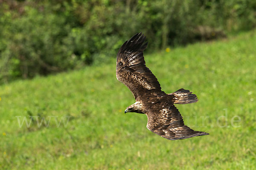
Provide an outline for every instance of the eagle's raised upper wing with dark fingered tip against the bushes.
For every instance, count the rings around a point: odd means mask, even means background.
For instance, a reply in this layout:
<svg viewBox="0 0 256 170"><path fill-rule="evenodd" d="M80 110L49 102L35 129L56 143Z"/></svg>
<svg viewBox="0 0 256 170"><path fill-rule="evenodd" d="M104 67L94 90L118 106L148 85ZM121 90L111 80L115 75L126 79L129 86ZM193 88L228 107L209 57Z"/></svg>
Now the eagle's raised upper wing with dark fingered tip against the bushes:
<svg viewBox="0 0 256 170"><path fill-rule="evenodd" d="M145 38L142 33L134 35L121 46L116 57L116 78L130 89L135 99L143 91L161 91L157 78L145 65Z"/></svg>

